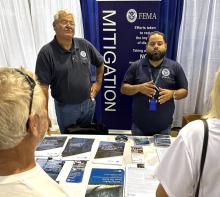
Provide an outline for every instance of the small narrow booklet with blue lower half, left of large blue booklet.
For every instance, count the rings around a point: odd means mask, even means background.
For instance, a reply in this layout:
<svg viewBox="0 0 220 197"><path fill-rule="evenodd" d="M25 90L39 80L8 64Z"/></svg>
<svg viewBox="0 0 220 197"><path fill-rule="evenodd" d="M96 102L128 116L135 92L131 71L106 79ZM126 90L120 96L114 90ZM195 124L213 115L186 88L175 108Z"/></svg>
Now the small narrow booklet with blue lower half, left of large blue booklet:
<svg viewBox="0 0 220 197"><path fill-rule="evenodd" d="M86 161L73 161L73 166L69 172L66 182L81 183L86 166Z"/></svg>

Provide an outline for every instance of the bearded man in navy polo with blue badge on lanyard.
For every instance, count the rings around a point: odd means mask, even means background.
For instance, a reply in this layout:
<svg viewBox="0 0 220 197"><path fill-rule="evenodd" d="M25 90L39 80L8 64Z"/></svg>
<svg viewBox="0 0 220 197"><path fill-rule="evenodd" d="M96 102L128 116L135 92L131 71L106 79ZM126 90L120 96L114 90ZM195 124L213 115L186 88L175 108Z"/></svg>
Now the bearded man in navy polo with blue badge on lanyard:
<svg viewBox="0 0 220 197"><path fill-rule="evenodd" d="M165 57L166 37L151 32L146 40L146 57L131 64L121 93L133 96L132 135L169 134L174 99L188 94L188 82L179 63Z"/></svg>

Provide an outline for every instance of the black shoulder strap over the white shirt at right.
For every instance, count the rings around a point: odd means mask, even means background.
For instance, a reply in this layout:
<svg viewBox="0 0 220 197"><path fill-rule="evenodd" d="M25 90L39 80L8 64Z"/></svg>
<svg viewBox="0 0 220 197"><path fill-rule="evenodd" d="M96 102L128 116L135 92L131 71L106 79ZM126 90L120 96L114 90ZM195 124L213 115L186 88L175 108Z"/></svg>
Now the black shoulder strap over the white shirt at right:
<svg viewBox="0 0 220 197"><path fill-rule="evenodd" d="M209 139L209 127L206 122L206 120L202 120L204 124L204 139L203 139L203 147L202 147L202 156L201 156L201 161L200 161L200 175L199 175L199 181L197 184L196 188L196 194L195 197L199 196L199 187L200 187L200 180L202 177L202 172L203 172L203 167L205 163L205 157L206 157L206 151L207 151L207 146L208 146L208 139Z"/></svg>

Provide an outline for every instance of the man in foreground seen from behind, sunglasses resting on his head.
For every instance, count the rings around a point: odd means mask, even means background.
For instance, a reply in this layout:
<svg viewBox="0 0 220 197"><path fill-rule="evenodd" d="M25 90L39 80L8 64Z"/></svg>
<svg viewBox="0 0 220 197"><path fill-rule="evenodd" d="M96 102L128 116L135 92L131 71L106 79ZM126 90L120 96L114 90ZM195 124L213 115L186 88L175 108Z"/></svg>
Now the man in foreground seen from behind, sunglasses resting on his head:
<svg viewBox="0 0 220 197"><path fill-rule="evenodd" d="M45 97L24 69L0 68L0 196L67 196L35 163L48 129Z"/></svg>

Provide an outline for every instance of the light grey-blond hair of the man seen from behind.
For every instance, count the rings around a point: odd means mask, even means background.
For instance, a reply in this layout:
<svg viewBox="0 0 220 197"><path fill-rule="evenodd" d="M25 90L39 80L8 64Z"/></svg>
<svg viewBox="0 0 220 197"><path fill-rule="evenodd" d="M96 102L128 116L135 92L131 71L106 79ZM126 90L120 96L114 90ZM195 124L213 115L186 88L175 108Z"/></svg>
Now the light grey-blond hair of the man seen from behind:
<svg viewBox="0 0 220 197"><path fill-rule="evenodd" d="M25 69L36 82L33 94L32 113L42 114L45 96L36 77ZM25 77L15 68L0 68L0 150L13 148L27 135L31 87Z"/></svg>

